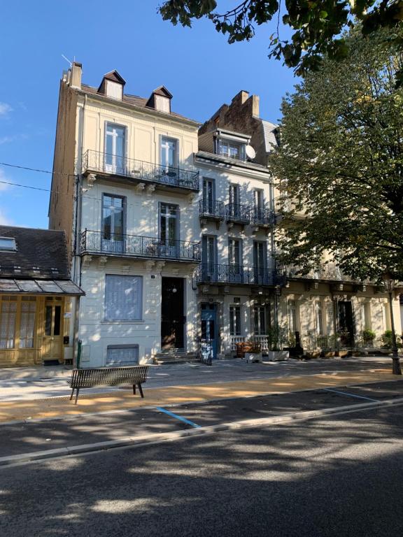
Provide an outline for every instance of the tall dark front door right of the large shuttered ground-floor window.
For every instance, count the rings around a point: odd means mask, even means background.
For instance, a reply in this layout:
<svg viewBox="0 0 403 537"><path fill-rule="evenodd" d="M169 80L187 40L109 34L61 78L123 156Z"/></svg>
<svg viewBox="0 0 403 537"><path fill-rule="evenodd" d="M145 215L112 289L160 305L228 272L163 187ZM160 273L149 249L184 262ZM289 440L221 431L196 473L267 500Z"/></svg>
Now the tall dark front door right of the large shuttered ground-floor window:
<svg viewBox="0 0 403 537"><path fill-rule="evenodd" d="M162 278L162 350L183 349L186 322L183 298L183 278Z"/></svg>

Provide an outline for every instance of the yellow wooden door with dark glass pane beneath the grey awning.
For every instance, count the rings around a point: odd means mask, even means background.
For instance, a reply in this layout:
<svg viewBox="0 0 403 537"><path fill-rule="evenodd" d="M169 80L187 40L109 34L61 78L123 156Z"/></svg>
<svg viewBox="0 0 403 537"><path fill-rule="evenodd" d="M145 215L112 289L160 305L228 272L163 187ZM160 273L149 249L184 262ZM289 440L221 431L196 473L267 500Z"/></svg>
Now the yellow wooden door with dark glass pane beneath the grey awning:
<svg viewBox="0 0 403 537"><path fill-rule="evenodd" d="M59 297L45 299L43 318L42 358L62 361L63 301Z"/></svg>

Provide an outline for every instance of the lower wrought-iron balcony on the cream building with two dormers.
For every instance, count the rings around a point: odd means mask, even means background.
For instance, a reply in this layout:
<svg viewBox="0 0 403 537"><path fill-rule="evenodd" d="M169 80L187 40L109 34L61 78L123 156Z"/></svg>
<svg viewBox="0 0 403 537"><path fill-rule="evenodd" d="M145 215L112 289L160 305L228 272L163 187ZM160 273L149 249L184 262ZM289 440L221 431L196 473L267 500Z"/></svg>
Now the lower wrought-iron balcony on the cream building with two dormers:
<svg viewBox="0 0 403 537"><path fill-rule="evenodd" d="M106 238L104 232L85 229L81 234L80 253L199 263L200 243L140 235L115 234Z"/></svg>

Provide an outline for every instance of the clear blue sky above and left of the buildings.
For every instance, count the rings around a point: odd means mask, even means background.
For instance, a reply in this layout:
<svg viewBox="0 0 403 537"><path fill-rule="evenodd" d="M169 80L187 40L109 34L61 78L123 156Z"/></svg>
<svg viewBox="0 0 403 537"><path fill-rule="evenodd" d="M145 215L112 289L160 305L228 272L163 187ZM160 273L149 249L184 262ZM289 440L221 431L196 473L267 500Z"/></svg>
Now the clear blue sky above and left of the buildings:
<svg viewBox="0 0 403 537"><path fill-rule="evenodd" d="M161 2L3 2L0 162L52 169L59 79L69 67L62 55L83 64L83 82L90 85L112 69L127 81L127 93L149 96L163 84L174 95L173 110L200 122L240 90L260 95L261 117L278 120L281 97L296 80L267 58L274 24L258 29L250 43L229 45L207 20L192 29L162 21ZM50 188L49 174L7 166L0 166L0 180ZM47 228L48 197L0 182L0 223Z"/></svg>

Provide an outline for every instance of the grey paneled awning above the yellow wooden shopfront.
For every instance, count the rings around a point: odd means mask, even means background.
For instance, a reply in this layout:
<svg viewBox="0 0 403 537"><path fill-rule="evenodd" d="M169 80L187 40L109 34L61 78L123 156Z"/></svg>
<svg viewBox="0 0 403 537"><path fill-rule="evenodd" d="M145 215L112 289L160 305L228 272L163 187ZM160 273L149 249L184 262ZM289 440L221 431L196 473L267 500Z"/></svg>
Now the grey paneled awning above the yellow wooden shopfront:
<svg viewBox="0 0 403 537"><path fill-rule="evenodd" d="M71 280L15 280L0 279L0 294L58 294L81 296L85 292Z"/></svg>

